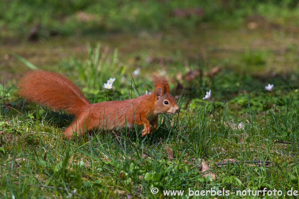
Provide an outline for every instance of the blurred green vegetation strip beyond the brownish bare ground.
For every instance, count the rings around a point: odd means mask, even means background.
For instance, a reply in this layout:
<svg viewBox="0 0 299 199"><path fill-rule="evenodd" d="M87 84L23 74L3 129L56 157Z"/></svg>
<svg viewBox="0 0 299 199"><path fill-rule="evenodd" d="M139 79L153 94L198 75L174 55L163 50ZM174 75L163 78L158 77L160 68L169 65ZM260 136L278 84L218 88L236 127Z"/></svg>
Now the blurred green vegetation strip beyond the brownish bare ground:
<svg viewBox="0 0 299 199"><path fill-rule="evenodd" d="M197 10L194 10L197 9ZM103 33L161 31L175 28L195 31L201 22L238 27L246 18L267 17L274 25L298 25L296 0L250 1L0 1L1 36L30 35L34 27L39 38L55 35L99 35Z"/></svg>

